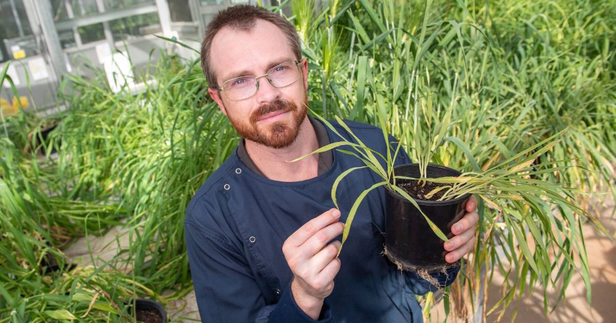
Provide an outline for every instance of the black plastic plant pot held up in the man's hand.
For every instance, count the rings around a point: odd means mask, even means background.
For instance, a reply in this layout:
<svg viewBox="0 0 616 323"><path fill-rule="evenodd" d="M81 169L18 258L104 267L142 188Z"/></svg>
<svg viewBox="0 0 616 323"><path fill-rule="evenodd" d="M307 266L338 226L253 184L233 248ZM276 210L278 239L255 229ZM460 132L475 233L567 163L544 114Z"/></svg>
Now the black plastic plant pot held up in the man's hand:
<svg viewBox="0 0 616 323"><path fill-rule="evenodd" d="M394 168L397 176L419 177L419 165L407 164ZM460 176L455 169L441 165L428 165L429 178ZM405 183L408 180L397 180ZM442 241L430 228L428 221L411 202L400 194L386 189L385 243L387 258L408 271L426 270L428 273L442 271L452 264L445 261ZM471 194L449 201L415 200L428 218L437 225L448 238L453 237L452 225L464 216L464 206Z"/></svg>

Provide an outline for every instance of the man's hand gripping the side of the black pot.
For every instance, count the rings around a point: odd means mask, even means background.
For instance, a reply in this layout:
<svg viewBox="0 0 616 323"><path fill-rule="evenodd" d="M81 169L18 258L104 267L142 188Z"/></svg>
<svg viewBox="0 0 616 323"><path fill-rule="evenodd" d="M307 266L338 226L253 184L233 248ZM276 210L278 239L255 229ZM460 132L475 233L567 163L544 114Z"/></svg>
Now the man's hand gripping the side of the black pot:
<svg viewBox="0 0 616 323"><path fill-rule="evenodd" d="M466 202L464 207L466 214L452 226L452 233L455 234L448 242L445 242L445 261L455 263L469 253L475 245L475 228L479 221L477 214L477 198L473 195Z"/></svg>

